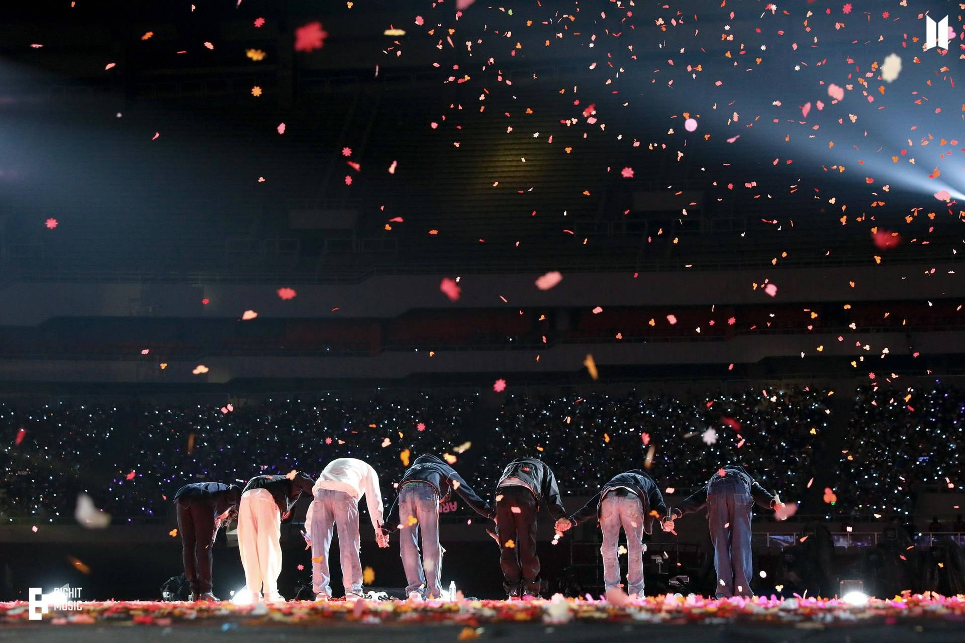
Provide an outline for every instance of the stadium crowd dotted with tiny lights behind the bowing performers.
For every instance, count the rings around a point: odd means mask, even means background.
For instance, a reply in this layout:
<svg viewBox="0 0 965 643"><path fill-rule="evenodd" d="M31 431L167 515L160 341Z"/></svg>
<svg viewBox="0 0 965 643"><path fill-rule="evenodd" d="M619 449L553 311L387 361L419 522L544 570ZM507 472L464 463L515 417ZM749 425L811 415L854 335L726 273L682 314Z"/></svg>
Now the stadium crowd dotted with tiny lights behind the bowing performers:
<svg viewBox="0 0 965 643"><path fill-rule="evenodd" d="M830 463L839 467L833 513L845 515L907 515L922 485L958 488L965 392L859 388L843 441L827 435L829 401L827 389L758 388L585 398L510 392L499 407L479 394L336 393L236 407L0 404L0 516L69 518L83 491L116 519L162 518L186 482L291 469L316 475L346 456L372 464L387 487L422 453L454 457L483 494L519 456L544 459L561 489L574 492L645 466L662 487L683 490L740 463L786 499L808 494L814 469ZM886 432L900 440L880 440ZM829 452L838 444L840 455Z"/></svg>

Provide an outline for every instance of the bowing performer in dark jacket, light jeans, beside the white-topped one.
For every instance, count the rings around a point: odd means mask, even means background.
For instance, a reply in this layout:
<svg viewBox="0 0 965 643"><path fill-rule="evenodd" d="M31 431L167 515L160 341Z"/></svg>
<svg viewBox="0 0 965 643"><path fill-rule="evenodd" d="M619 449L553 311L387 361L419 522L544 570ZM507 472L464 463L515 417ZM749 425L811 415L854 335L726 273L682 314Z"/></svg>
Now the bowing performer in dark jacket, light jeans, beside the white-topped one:
<svg viewBox="0 0 965 643"><path fill-rule="evenodd" d="M400 554L405 580L405 593L421 598L442 596L442 554L439 545L439 502L455 492L466 504L487 519L492 507L466 484L455 469L434 455L421 455L405 471L399 483L399 496L389 511L387 525L400 529ZM422 553L419 556L419 532L422 531Z"/></svg>

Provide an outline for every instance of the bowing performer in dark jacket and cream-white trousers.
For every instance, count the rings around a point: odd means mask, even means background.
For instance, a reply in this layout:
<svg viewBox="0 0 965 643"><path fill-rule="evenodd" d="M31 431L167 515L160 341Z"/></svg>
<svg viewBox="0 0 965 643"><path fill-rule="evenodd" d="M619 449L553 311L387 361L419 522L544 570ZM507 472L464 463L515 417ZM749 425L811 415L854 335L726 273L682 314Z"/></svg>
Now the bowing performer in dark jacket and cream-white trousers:
<svg viewBox="0 0 965 643"><path fill-rule="evenodd" d="M282 602L278 575L282 572L281 525L291 522L302 494L312 496L315 479L306 473L258 475L248 481L238 506L238 550L245 586L252 598Z"/></svg>

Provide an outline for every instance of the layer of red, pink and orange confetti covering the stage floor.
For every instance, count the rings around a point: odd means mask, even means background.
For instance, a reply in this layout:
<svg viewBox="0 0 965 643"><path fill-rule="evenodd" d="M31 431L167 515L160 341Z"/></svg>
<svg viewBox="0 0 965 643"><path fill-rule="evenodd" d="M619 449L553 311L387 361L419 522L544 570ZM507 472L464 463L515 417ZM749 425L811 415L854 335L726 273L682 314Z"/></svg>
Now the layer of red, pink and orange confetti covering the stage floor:
<svg viewBox="0 0 965 643"><path fill-rule="evenodd" d="M628 600L627 600L628 601ZM618 601L617 603L621 603ZM679 595L648 597L618 605L605 601L564 599L509 602L455 601L403 602L367 601L356 603L288 603L238 605L178 602L85 602L74 611L44 614L41 621L28 621L25 602L0 603L0 624L4 625L157 625L174 623L225 623L247 625L329 622L356 624L450 624L478 627L491 623L570 622L650 623L681 625L725 623L783 625L795 628L825 628L878 623L893 625L921 621L965 620L965 596L915 595L892 600L869 599L867 604L839 600L779 599L755 597L706 600Z"/></svg>

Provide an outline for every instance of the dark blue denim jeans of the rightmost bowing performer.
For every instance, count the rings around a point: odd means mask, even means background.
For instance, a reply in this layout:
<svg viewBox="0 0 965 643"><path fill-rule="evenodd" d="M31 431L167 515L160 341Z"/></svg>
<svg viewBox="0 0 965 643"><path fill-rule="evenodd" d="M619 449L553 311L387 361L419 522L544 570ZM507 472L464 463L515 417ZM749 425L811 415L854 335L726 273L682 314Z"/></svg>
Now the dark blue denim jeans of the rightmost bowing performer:
<svg viewBox="0 0 965 643"><path fill-rule="evenodd" d="M754 596L751 576L751 505L747 483L727 475L707 489L707 521L714 546L717 598Z"/></svg>

